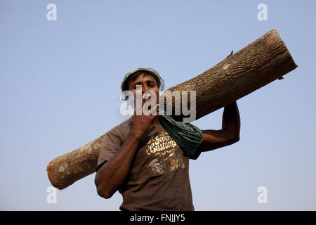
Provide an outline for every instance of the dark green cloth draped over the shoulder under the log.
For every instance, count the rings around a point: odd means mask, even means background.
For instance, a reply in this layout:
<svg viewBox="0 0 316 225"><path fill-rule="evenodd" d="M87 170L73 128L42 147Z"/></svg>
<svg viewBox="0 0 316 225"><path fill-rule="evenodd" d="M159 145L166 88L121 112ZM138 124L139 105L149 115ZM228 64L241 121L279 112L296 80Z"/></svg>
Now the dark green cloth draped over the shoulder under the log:
<svg viewBox="0 0 316 225"><path fill-rule="evenodd" d="M196 160L199 157L200 152L197 151L197 148L203 141L201 129L193 124L178 122L171 115L167 115L166 112L164 112L164 115L159 115L159 121L171 138L183 150L184 155L192 160Z"/></svg>

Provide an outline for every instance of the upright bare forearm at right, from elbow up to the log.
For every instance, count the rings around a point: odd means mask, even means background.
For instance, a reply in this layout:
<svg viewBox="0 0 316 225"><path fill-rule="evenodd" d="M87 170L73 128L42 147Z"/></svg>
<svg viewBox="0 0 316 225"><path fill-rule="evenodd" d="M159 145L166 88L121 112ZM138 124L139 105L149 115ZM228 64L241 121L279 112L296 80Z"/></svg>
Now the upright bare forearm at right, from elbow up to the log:
<svg viewBox="0 0 316 225"><path fill-rule="evenodd" d="M223 112L222 129L239 138L240 116L237 102L226 105Z"/></svg>

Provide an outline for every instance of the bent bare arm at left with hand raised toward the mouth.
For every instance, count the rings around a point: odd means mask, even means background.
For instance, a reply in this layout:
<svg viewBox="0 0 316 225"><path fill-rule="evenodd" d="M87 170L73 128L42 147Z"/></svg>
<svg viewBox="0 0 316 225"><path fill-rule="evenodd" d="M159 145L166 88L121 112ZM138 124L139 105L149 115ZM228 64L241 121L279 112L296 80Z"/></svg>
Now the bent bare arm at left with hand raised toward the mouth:
<svg viewBox="0 0 316 225"><path fill-rule="evenodd" d="M131 169L141 136L147 131L157 115L133 115L131 131L113 158L105 162L96 172L95 184L98 195L111 198L126 179Z"/></svg>

